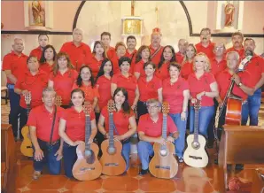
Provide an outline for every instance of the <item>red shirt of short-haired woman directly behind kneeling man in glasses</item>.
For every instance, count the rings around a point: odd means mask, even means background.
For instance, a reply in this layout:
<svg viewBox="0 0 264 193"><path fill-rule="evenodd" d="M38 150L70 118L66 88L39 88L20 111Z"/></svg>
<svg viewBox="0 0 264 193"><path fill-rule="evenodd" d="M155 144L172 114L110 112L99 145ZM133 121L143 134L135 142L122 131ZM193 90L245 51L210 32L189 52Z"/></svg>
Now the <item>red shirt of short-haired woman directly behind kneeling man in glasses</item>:
<svg viewBox="0 0 264 193"><path fill-rule="evenodd" d="M139 100L146 102L150 98L158 99L158 89L162 88L162 82L156 76L151 81L146 81L146 77L140 77L137 81L139 90Z"/></svg>

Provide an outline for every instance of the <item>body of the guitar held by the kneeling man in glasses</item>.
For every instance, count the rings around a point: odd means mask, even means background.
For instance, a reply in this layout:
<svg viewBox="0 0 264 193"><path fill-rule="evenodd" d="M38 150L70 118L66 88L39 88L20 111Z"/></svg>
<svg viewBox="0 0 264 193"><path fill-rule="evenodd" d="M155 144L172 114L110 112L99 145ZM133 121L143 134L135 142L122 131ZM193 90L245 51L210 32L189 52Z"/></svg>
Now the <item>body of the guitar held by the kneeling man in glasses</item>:
<svg viewBox="0 0 264 193"><path fill-rule="evenodd" d="M152 175L157 178L170 179L175 177L178 172L178 162L174 156L175 145L167 142L167 155L160 154L161 144L154 143L154 157L151 159L149 169Z"/></svg>

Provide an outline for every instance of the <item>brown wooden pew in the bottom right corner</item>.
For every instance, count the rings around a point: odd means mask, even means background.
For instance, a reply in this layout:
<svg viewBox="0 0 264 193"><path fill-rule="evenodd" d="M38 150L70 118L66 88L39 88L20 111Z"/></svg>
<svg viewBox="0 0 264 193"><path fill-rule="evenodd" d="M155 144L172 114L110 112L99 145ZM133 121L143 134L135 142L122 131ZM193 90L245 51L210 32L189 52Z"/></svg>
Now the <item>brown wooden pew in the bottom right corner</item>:
<svg viewBox="0 0 264 193"><path fill-rule="evenodd" d="M264 164L264 127L224 126L218 163L220 192L226 192L228 164Z"/></svg>

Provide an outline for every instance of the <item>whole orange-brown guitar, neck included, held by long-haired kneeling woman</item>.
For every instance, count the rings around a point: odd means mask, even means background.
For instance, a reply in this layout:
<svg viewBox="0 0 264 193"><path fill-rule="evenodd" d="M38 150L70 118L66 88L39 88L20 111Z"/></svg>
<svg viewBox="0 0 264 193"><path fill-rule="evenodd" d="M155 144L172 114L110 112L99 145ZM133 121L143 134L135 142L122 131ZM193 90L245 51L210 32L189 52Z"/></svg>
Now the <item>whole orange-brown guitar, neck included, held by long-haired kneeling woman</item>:
<svg viewBox="0 0 264 193"><path fill-rule="evenodd" d="M113 100L107 104L109 112L109 139L101 144L103 152L100 163L103 166L102 173L105 175L119 175L126 170L126 162L121 155L122 143L113 140L113 111L115 109Z"/></svg>

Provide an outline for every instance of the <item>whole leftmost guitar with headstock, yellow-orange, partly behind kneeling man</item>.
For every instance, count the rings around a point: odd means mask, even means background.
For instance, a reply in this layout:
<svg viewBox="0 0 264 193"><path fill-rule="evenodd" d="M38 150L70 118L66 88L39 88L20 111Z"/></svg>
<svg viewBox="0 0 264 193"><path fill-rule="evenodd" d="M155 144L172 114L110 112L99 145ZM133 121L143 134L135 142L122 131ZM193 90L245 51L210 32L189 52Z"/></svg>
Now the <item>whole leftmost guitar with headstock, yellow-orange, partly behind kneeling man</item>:
<svg viewBox="0 0 264 193"><path fill-rule="evenodd" d="M31 92L27 92L27 94L25 95L25 101L27 104L27 118L28 118L28 115L30 112ZM32 148L32 143L31 143L30 135L29 135L29 127L27 125L22 127L21 134L24 137L23 142L21 143L21 146L20 146L21 153L24 156L33 157L33 148Z"/></svg>

